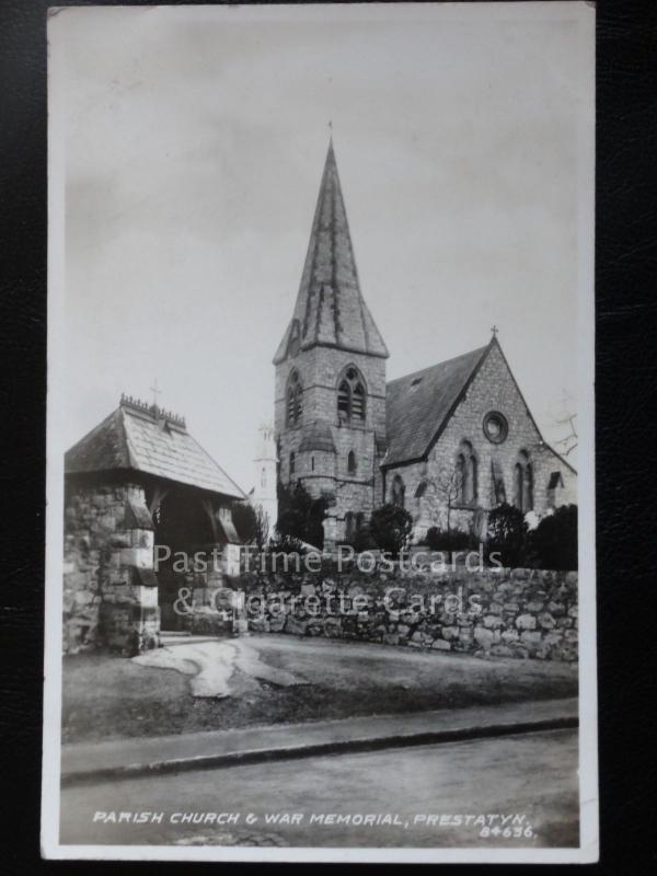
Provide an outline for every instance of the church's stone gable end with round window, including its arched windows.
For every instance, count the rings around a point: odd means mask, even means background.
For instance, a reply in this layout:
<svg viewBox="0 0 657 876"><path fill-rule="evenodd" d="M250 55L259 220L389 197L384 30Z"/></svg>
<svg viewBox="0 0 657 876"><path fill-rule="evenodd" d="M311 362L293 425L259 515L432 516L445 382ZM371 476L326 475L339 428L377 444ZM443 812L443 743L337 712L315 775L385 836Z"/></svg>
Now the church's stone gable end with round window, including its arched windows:
<svg viewBox="0 0 657 876"><path fill-rule="evenodd" d="M450 527L470 529L477 508L503 502L539 515L576 502L576 473L544 442L496 338L446 419L425 426L434 437L422 459L390 466L385 460L387 483L403 479L416 534L446 528L448 504ZM556 483L564 487L555 489Z"/></svg>

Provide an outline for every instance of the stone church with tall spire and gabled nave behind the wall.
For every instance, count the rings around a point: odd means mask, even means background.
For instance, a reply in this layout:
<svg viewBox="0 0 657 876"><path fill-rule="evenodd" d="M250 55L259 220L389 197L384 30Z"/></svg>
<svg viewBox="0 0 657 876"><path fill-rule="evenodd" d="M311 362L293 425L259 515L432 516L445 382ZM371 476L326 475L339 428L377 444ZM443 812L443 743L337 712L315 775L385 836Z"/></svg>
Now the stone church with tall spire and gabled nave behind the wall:
<svg viewBox="0 0 657 876"><path fill-rule="evenodd" d="M387 382L388 347L362 297L330 143L299 293L274 357L279 477L331 507L325 543L372 510L482 534L504 502L541 517L577 502L573 466L543 440L496 331L477 349Z"/></svg>

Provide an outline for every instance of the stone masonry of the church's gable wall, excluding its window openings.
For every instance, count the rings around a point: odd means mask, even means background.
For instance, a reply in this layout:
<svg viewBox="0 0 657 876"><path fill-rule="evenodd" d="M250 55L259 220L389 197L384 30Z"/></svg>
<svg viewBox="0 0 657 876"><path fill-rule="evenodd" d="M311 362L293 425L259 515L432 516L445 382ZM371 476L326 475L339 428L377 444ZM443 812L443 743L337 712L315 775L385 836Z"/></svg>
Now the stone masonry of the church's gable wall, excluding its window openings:
<svg viewBox="0 0 657 876"><path fill-rule="evenodd" d="M508 436L499 445L492 443L483 431L483 419L489 411L500 412L508 422ZM387 469L388 497L394 475L400 474L404 481L406 508L415 521L416 539L422 538L430 526L443 529L447 526L445 483L454 471L459 446L463 440L470 441L477 460L479 507L489 509L497 504L493 465L504 479L507 502L514 503L514 468L522 450L528 453L532 465L533 505L539 516L551 507L577 503L577 475L542 441L499 346L493 345L428 458L411 465ZM553 472L561 473L564 486L551 494L548 485ZM416 497L417 487L423 482L428 482L429 486L423 496ZM468 530L472 517L472 508L452 509L450 525Z"/></svg>

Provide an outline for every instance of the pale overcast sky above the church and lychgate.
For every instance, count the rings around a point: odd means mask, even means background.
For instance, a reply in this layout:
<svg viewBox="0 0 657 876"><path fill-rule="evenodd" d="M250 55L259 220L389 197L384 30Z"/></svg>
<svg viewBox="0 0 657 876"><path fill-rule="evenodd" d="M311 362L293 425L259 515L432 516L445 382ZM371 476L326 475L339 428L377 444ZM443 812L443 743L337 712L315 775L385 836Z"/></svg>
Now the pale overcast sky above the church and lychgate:
<svg viewBox="0 0 657 876"><path fill-rule="evenodd" d="M558 437L564 393L577 396L591 97L580 18L550 5L542 20L519 5L53 18L67 446L122 392L152 399L157 378L160 403L251 488L330 119L389 378L482 346L495 323Z"/></svg>

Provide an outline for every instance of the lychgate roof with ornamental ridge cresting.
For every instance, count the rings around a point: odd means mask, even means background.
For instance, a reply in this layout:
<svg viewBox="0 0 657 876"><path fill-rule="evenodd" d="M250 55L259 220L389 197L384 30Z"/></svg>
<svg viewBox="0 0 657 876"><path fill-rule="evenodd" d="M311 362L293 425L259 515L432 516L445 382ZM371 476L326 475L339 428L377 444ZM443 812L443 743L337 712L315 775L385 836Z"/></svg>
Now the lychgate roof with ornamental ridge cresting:
<svg viewBox="0 0 657 876"><path fill-rule="evenodd" d="M184 420L159 407L122 404L65 457L66 474L138 471L233 498L244 493L189 435Z"/></svg>

